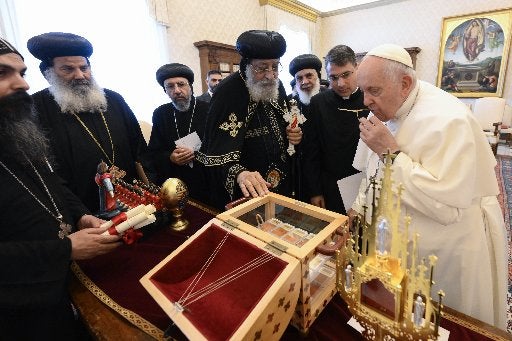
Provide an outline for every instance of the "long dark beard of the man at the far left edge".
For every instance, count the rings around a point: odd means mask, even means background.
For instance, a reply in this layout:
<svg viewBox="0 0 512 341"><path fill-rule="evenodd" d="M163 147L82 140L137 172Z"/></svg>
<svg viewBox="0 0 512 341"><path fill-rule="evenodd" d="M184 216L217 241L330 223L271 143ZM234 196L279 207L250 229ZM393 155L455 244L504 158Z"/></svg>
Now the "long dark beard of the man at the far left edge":
<svg viewBox="0 0 512 341"><path fill-rule="evenodd" d="M48 139L39 129L32 98L25 91L0 98L0 157L26 165L44 164Z"/></svg>

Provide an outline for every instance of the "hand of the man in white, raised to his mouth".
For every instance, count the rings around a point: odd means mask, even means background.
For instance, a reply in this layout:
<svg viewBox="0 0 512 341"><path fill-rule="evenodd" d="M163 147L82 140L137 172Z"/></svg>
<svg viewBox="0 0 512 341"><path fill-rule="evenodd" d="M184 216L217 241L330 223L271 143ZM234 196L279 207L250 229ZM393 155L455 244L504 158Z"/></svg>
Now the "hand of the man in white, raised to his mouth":
<svg viewBox="0 0 512 341"><path fill-rule="evenodd" d="M370 117L369 120L360 118L359 131L361 140L380 158L388 150L394 153L400 149L389 129L375 116Z"/></svg>

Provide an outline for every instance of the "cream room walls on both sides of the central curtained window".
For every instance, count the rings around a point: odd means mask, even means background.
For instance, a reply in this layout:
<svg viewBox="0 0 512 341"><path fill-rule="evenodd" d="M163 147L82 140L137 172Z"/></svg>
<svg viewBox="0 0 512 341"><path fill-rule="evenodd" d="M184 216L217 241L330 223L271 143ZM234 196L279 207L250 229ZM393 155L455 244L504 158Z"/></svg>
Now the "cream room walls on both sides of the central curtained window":
<svg viewBox="0 0 512 341"><path fill-rule="evenodd" d="M167 7L171 22L167 29L169 62L190 66L196 77L200 75L200 66L194 42L212 40L234 45L236 38L246 30L275 30L276 11L282 12L277 16L278 20L290 22L290 14L277 9L267 10L267 6L260 6L258 0L167 0ZM319 18L313 27L304 27L304 30L316 37L311 42L312 53L321 58L337 44L349 45L356 52L368 51L382 43L420 47L418 76L435 84L443 17L507 7L512 7L512 0L404 0ZM201 83L197 80L194 92L196 95L201 93ZM507 65L503 97L512 105L512 62ZM474 101L462 100L468 104Z"/></svg>

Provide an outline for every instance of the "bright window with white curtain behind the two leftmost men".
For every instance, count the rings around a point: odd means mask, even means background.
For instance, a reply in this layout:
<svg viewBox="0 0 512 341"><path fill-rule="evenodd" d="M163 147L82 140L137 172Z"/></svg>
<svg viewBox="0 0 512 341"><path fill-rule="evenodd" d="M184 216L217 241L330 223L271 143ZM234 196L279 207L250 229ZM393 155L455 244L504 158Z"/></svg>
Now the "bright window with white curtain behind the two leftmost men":
<svg viewBox="0 0 512 341"><path fill-rule="evenodd" d="M146 0L0 0L2 35L24 55L30 93L48 86L27 40L45 32L71 32L94 47L90 58L100 86L120 93L139 120L169 99L155 80L168 60L165 26L149 14Z"/></svg>

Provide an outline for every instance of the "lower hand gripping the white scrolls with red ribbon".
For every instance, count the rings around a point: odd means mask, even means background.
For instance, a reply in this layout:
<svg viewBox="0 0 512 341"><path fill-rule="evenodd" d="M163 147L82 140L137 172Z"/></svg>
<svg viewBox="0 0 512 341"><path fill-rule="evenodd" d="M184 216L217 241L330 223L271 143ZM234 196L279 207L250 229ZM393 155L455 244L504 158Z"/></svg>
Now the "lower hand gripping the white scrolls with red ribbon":
<svg viewBox="0 0 512 341"><path fill-rule="evenodd" d="M89 259L114 250L121 245L120 237L102 236L106 229L86 228L68 236L71 239L71 259Z"/></svg>

